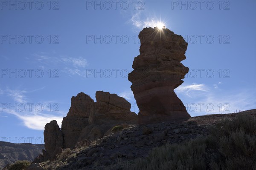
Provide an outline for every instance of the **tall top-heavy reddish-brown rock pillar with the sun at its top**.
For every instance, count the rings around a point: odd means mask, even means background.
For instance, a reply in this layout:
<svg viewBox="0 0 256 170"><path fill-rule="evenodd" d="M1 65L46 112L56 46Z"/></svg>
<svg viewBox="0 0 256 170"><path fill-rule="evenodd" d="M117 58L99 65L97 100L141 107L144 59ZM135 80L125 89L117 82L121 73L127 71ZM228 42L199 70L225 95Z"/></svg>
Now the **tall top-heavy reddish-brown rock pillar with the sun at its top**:
<svg viewBox="0 0 256 170"><path fill-rule="evenodd" d="M186 59L188 43L169 29L145 28L140 34L140 55L134 58L128 75L131 90L140 109L139 124L181 122L190 115L173 91L189 71L180 61Z"/></svg>

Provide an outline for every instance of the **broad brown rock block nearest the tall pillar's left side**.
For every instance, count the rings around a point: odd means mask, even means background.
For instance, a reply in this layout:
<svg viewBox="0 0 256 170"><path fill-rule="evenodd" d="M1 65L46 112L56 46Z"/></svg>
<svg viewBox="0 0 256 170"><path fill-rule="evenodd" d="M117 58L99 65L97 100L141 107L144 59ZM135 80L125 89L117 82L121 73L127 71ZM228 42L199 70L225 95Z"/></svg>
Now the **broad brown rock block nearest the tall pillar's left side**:
<svg viewBox="0 0 256 170"><path fill-rule="evenodd" d="M89 125L80 134L79 140L101 138L119 124L137 124L137 115L130 111L131 104L124 98L109 92L97 91L96 102L89 116Z"/></svg>

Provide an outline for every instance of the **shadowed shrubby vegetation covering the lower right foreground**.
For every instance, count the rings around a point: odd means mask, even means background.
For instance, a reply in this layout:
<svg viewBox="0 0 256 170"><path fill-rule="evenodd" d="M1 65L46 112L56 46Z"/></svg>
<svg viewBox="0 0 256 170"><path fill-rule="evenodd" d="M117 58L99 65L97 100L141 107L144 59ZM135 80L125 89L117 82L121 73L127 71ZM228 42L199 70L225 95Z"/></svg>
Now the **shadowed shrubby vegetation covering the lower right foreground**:
<svg viewBox="0 0 256 170"><path fill-rule="evenodd" d="M147 158L105 170L256 170L256 120L238 115L209 128L207 138L156 147Z"/></svg>

